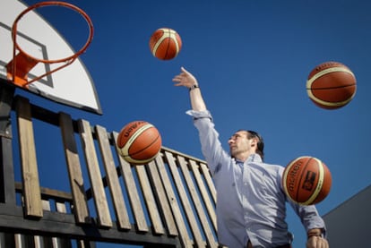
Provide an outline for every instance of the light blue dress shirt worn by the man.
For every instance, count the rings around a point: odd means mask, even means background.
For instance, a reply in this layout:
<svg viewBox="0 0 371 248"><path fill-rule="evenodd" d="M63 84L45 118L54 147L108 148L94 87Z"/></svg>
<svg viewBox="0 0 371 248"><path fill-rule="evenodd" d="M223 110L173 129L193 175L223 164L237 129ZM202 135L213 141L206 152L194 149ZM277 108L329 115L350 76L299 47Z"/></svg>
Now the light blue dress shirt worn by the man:
<svg viewBox="0 0 371 248"><path fill-rule="evenodd" d="M282 190L284 167L265 164L258 154L245 162L223 150L209 111L187 111L199 131L203 156L211 170L217 191L217 225L220 244L230 248L277 247L292 242L286 218L287 198ZM289 201L306 231L325 228L314 205Z"/></svg>

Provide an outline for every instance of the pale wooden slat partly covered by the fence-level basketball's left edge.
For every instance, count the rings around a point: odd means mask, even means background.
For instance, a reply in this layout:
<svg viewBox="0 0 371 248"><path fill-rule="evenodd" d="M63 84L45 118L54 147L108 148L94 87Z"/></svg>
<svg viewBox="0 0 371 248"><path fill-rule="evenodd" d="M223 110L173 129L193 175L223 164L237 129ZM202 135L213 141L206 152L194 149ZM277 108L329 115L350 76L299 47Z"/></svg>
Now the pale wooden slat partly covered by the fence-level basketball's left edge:
<svg viewBox="0 0 371 248"><path fill-rule="evenodd" d="M125 159L119 155L119 152L117 150L116 141L117 141L118 133L114 132L112 134L113 134L114 141L115 141L118 162L120 163L121 175L123 175L124 177L124 182L125 182L127 194L129 197L129 201L130 201L130 204L133 210L136 227L138 228L138 231L140 232L148 232L149 228L147 226L147 222L144 217L144 211L142 210L141 200L139 198L139 194L138 194L135 182L134 182L134 176L132 173L132 169L130 167L130 164L127 163Z"/></svg>

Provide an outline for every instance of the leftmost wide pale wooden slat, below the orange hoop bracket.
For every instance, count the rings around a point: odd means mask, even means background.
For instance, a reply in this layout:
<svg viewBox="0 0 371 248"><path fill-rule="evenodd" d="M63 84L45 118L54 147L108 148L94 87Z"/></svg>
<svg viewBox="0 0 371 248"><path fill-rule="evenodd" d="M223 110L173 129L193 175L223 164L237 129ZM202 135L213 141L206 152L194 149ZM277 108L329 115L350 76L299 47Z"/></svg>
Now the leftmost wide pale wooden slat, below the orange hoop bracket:
<svg viewBox="0 0 371 248"><path fill-rule="evenodd" d="M19 98L16 105L18 122L18 139L21 153L22 184L25 214L41 218L43 215L36 148L30 112L30 102Z"/></svg>

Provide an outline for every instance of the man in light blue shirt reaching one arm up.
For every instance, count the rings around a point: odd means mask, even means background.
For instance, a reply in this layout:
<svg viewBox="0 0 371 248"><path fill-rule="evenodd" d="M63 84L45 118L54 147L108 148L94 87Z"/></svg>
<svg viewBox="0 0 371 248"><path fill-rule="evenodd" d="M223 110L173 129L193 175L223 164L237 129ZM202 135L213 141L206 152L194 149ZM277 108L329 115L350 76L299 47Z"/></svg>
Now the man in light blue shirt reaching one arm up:
<svg viewBox="0 0 371 248"><path fill-rule="evenodd" d="M230 248L291 247L288 200L280 183L284 167L263 163L263 138L253 131L237 131L229 139L230 154L223 150L194 75L182 67L173 81L189 89L192 110L187 114L194 118L217 191L219 243ZM306 228L306 247L328 248L324 220L315 206L289 203Z"/></svg>

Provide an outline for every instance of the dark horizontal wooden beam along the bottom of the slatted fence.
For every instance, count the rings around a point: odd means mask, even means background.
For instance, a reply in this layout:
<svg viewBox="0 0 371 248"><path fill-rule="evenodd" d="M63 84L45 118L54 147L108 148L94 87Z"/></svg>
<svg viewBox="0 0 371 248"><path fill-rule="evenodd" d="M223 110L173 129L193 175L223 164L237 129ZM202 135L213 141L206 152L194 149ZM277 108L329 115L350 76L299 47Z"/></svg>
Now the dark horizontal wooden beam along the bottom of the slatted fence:
<svg viewBox="0 0 371 248"><path fill-rule="evenodd" d="M104 243L153 244L154 247L175 247L171 245L180 244L177 237L155 235L152 232L120 231L116 227L100 228L94 222L89 225L76 225L76 221L71 214L64 215L62 213L45 211L43 218L40 218L38 221L25 219L23 218L22 208L5 210L1 204L0 231L25 235L57 236ZM165 244L168 246L165 246Z"/></svg>

